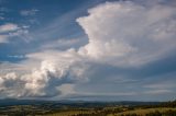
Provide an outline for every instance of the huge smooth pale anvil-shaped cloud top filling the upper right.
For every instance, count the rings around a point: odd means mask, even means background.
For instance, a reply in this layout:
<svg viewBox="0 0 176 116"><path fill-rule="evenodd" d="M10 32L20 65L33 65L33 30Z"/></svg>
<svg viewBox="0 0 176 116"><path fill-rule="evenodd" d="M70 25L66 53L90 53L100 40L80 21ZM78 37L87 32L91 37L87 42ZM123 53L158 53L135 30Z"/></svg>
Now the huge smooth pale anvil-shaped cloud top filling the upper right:
<svg viewBox="0 0 176 116"><path fill-rule="evenodd" d="M176 48L174 7L121 1L88 12L88 16L77 19L89 37L79 49L84 56L125 67L157 60Z"/></svg>

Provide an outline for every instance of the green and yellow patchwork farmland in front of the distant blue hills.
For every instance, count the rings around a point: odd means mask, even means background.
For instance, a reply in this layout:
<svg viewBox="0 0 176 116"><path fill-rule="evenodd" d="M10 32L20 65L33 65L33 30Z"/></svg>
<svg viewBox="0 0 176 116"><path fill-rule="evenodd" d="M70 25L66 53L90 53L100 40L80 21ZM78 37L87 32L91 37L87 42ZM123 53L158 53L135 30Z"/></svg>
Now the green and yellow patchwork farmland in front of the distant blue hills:
<svg viewBox="0 0 176 116"><path fill-rule="evenodd" d="M176 102L156 105L14 105L0 107L0 116L176 116Z"/></svg>

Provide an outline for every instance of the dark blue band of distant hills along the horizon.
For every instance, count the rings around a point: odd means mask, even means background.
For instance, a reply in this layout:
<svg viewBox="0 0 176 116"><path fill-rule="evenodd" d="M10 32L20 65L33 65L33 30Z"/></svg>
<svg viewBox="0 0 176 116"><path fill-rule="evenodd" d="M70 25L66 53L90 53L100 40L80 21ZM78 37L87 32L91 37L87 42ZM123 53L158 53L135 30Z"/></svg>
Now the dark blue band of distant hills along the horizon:
<svg viewBox="0 0 176 116"><path fill-rule="evenodd" d="M135 102L135 101L120 101L120 102L97 102L97 101L43 101L43 100L15 100L4 98L0 100L0 106L12 105L53 105L53 106L74 106L74 107L92 107L92 106L116 106L116 105L157 105L160 102Z"/></svg>

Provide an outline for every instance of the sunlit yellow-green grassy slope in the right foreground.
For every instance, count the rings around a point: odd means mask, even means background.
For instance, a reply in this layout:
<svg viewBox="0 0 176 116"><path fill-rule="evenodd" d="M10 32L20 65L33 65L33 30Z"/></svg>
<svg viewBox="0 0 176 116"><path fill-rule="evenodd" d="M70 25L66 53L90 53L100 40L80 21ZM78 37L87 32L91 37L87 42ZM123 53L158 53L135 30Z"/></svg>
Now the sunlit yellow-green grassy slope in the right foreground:
<svg viewBox="0 0 176 116"><path fill-rule="evenodd" d="M168 108L168 107L160 107L160 108L145 108L145 109L125 109L124 112L121 113L116 113L113 108L109 108L109 112L107 113L106 108L99 112L96 111L67 111L67 112L62 112L62 113L55 113L55 114L50 114L45 116L176 116L175 115L169 115L169 112L175 112L176 108ZM119 108L119 107L118 107ZM157 115L156 115L157 113ZM165 114L167 113L167 114Z"/></svg>

